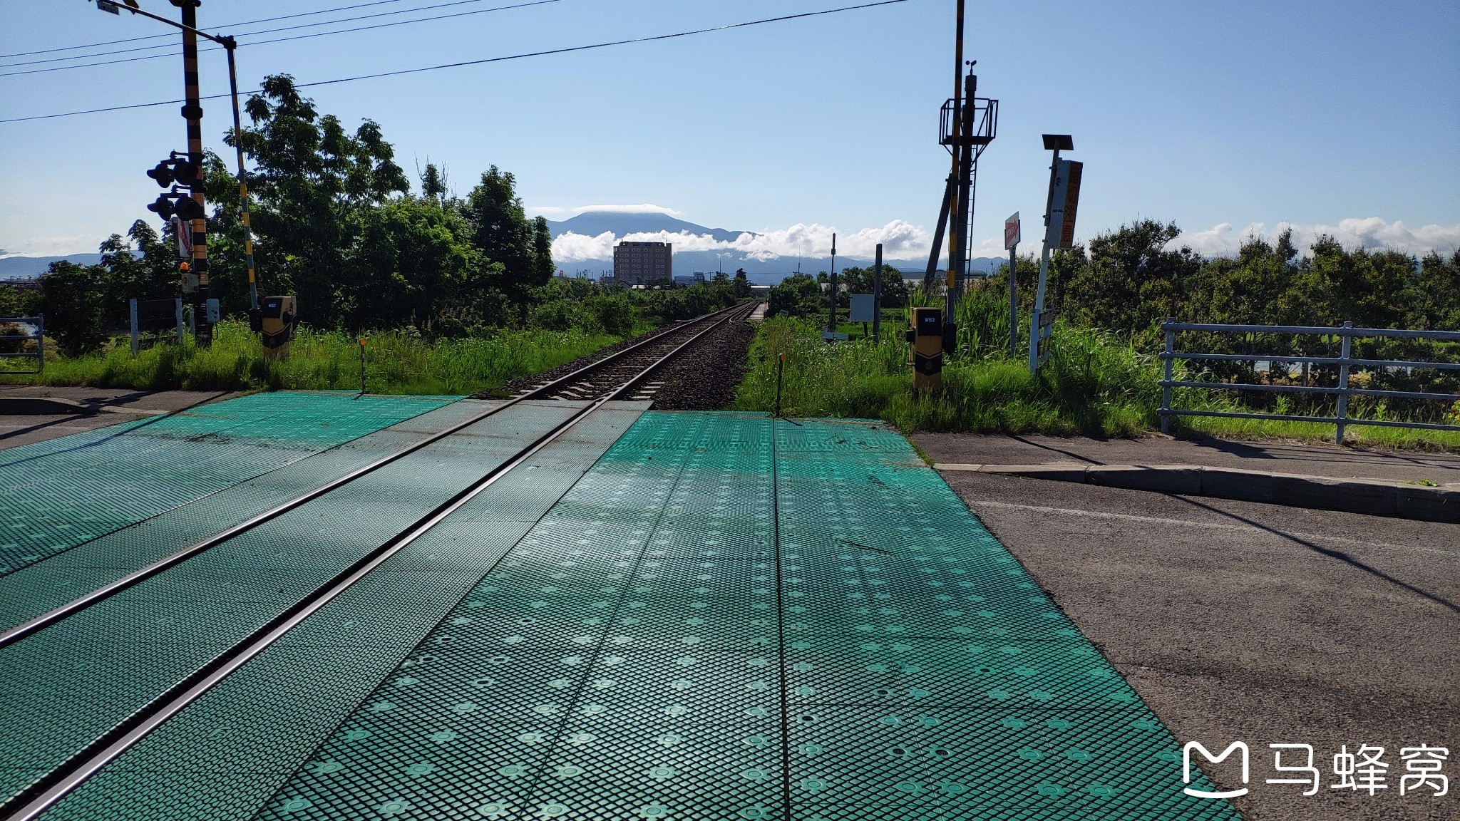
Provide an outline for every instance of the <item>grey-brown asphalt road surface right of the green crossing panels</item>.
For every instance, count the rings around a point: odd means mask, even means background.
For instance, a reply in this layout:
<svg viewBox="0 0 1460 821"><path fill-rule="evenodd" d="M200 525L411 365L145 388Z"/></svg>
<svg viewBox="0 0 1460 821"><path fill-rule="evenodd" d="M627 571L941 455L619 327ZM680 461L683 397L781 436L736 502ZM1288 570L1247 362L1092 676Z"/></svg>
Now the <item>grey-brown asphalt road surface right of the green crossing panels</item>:
<svg viewBox="0 0 1460 821"><path fill-rule="evenodd" d="M943 478L1180 742L1247 742L1248 820L1460 818L1460 526ZM1318 795L1266 783L1296 777L1269 744L1313 745ZM1330 789L1340 745L1384 746L1388 789ZM1399 795L1400 748L1421 745L1448 748L1444 798ZM1244 786L1232 761L1204 767L1222 789Z"/></svg>

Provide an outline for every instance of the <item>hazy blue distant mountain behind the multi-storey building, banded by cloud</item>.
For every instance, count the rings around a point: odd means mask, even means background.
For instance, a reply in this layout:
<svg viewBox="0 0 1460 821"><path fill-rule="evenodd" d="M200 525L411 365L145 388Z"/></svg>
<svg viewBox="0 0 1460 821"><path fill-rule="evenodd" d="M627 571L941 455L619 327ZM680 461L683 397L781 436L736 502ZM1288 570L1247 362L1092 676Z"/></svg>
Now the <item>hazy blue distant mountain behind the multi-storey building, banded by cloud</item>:
<svg viewBox="0 0 1460 821"><path fill-rule="evenodd" d="M708 234L720 243L733 243L742 234L755 234L753 231L707 228L704 225L695 225L694 222L676 219L667 213L616 210L587 210L561 222L549 219L548 229L552 232L553 238L568 232L580 234L583 237L597 237L603 232L609 232L613 234L615 240L628 234L656 234L658 231L679 234L683 231L696 237ZM838 254L837 269L840 270L851 264L866 266L872 264L872 259ZM990 273L999 270L999 266L1003 263L1004 260L1002 259L978 257L971 260L969 267L975 272ZM695 272L711 273L717 270L731 273L737 267L743 267L750 282L759 285L775 285L781 279L794 273L797 267L810 275L816 275L816 272L821 270L829 270L831 257L771 257L759 260L733 250L680 251L676 248L673 264L676 276L688 276ZM886 264L896 267L904 276L921 276L927 270L926 263L910 260L889 260ZM610 253L610 256L604 259L559 261L558 267L568 273L588 272L590 275L597 276L613 270L613 257Z"/></svg>

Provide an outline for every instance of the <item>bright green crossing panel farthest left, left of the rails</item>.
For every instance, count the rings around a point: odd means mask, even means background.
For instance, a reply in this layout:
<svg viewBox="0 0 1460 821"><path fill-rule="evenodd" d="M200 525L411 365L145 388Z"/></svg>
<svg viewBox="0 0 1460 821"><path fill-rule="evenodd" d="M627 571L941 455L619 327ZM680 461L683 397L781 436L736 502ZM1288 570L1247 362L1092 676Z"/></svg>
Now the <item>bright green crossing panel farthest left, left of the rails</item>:
<svg viewBox="0 0 1460 821"><path fill-rule="evenodd" d="M0 576L451 397L279 392L0 451Z"/></svg>

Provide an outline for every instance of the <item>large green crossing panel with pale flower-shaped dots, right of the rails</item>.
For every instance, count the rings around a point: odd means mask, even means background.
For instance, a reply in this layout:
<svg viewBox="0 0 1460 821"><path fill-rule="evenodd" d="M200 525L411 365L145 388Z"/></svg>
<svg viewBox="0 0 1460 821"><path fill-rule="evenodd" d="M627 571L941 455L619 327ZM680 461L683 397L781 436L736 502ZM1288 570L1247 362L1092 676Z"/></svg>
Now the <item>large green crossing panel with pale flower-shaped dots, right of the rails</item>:
<svg viewBox="0 0 1460 821"><path fill-rule="evenodd" d="M895 432L645 413L257 817L1238 817L1180 761Z"/></svg>

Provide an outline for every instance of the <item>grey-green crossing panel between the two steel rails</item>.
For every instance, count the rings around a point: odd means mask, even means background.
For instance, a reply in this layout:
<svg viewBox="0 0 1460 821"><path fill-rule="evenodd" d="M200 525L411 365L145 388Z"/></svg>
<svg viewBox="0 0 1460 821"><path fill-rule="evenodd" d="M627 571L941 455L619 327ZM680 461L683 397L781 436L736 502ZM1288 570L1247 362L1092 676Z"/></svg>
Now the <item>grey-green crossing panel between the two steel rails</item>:
<svg viewBox="0 0 1460 821"><path fill-rule="evenodd" d="M0 649L0 801L26 787L28 767L69 760L572 412L502 410ZM429 549L397 557L425 562Z"/></svg>

